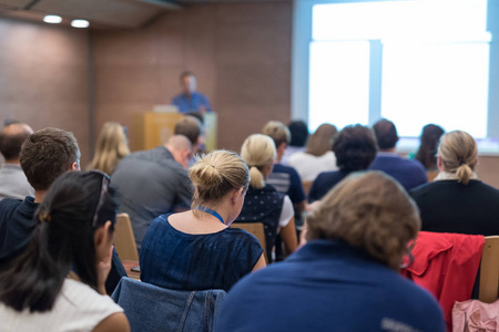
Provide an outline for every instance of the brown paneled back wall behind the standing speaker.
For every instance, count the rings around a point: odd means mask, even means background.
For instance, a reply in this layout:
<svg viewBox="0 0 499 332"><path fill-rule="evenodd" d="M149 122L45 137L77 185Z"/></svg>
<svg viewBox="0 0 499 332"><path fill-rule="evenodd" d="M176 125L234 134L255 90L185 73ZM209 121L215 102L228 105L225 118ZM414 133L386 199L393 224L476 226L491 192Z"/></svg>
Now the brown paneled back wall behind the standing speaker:
<svg viewBox="0 0 499 332"><path fill-rule="evenodd" d="M93 40L98 131L169 104L187 69L218 113L218 147L238 151L267 121L289 121L292 2L196 4Z"/></svg>

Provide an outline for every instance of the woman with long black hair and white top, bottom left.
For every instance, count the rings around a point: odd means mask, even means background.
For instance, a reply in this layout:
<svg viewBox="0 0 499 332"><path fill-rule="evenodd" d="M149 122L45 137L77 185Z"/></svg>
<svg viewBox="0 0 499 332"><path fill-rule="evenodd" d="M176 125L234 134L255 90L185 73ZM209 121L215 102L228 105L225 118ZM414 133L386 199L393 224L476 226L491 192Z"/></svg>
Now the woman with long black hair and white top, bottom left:
<svg viewBox="0 0 499 332"><path fill-rule="evenodd" d="M109 177L62 175L37 219L28 249L0 273L2 331L130 331L123 310L105 295L116 220Z"/></svg>

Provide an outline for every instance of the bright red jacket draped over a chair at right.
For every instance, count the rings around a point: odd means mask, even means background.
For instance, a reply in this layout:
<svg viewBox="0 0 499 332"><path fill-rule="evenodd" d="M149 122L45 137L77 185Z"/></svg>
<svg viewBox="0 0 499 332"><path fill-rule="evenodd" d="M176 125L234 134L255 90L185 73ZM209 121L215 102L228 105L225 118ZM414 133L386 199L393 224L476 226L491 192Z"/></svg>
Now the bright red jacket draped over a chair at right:
<svg viewBox="0 0 499 332"><path fill-rule="evenodd" d="M437 298L449 331L454 303L471 298L483 245L483 236L420 231L401 271Z"/></svg>

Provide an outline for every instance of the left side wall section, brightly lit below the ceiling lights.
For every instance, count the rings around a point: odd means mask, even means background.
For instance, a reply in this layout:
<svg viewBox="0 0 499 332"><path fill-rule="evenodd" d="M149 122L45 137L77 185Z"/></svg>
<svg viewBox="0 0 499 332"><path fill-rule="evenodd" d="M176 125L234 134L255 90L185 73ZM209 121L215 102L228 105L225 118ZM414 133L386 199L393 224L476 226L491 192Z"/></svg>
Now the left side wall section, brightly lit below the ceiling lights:
<svg viewBox="0 0 499 332"><path fill-rule="evenodd" d="M88 32L0 19L0 122L74 133L88 162Z"/></svg>

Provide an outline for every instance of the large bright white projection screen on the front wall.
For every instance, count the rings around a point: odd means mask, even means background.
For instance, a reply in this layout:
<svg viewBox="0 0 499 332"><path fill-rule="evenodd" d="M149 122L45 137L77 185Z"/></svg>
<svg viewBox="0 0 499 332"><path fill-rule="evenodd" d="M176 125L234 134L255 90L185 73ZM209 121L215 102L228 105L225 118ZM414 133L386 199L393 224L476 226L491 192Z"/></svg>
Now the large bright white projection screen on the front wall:
<svg viewBox="0 0 499 332"><path fill-rule="evenodd" d="M386 117L400 136L436 123L487 137L487 0L327 3L310 14L312 131Z"/></svg>

